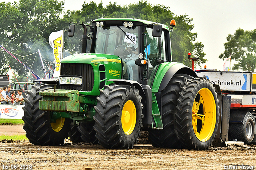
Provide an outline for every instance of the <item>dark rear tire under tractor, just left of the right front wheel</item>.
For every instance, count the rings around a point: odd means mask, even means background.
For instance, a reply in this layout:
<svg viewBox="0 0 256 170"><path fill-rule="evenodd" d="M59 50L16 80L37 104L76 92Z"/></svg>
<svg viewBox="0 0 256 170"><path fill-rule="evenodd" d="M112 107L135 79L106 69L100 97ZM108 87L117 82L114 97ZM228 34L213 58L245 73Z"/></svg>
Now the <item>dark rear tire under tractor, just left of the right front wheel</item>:
<svg viewBox="0 0 256 170"><path fill-rule="evenodd" d="M81 139L87 143L98 143L98 139L95 137L96 131L94 130L95 122L82 122L78 127L78 131L81 134Z"/></svg>

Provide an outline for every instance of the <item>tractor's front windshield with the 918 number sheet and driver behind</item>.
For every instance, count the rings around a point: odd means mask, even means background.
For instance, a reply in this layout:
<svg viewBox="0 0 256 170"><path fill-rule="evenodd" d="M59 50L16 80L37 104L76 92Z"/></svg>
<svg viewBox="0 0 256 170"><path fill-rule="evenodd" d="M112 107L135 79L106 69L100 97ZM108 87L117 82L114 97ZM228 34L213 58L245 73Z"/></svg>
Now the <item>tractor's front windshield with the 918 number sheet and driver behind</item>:
<svg viewBox="0 0 256 170"><path fill-rule="evenodd" d="M135 65L135 60L138 59L139 52L138 35L138 26L132 28L124 26L98 27L95 53L112 54L121 57L126 63L124 65L126 74L123 78L137 81L138 65Z"/></svg>

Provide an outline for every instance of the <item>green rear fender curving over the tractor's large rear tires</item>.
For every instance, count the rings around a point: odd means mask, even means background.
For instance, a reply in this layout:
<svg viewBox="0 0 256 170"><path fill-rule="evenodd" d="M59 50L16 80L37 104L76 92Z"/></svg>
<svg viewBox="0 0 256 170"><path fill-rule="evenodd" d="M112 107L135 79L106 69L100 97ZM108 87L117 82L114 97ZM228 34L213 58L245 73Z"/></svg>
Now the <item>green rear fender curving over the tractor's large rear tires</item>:
<svg viewBox="0 0 256 170"><path fill-rule="evenodd" d="M160 64L156 71L156 76L152 85L152 92L157 93L158 91L162 91L176 73L197 77L194 70L182 63L165 62Z"/></svg>

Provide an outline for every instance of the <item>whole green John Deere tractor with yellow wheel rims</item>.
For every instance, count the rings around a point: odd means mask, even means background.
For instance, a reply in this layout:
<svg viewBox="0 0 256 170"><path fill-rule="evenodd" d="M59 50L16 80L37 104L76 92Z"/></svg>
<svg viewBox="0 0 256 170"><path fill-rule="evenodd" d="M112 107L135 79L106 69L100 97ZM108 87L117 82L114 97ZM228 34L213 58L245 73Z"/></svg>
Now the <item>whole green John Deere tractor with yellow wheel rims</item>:
<svg viewBox="0 0 256 170"><path fill-rule="evenodd" d="M68 36L76 25L70 23ZM208 79L172 62L174 20L171 31L130 18L81 25L82 53L62 59L59 79L38 80L25 98L22 119L32 144L58 146L70 137L129 149L142 129L156 147L205 150L212 144L217 93Z"/></svg>

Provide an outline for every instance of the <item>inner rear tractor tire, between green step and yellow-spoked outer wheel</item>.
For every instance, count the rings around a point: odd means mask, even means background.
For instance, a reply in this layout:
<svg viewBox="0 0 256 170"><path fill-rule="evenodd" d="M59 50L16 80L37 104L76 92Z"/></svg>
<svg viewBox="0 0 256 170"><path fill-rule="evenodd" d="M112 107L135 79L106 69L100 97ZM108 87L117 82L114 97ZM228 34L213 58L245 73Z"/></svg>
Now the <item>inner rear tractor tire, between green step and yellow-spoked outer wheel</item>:
<svg viewBox="0 0 256 170"><path fill-rule="evenodd" d="M176 130L176 105L177 99L188 75L176 74L172 77L166 88L162 91L162 123L163 130L150 129L149 139L152 145L160 148L180 148Z"/></svg>

